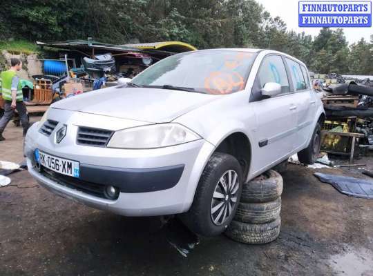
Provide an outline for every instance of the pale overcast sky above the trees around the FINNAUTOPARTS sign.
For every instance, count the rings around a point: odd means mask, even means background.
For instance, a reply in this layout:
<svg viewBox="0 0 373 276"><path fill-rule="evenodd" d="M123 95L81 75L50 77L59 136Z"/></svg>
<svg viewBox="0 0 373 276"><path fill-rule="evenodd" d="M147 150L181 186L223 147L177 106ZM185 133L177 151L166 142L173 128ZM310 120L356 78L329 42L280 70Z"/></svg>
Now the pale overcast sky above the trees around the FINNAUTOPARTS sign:
<svg viewBox="0 0 373 276"><path fill-rule="evenodd" d="M305 32L315 37L320 28L301 28L298 27L298 0L256 0L265 7L265 10L271 14L271 17L279 16L287 25L287 30L296 32ZM333 29L333 28L332 28ZM357 42L364 37L365 41L370 41L370 35L373 34L371 28L343 28L349 44Z"/></svg>

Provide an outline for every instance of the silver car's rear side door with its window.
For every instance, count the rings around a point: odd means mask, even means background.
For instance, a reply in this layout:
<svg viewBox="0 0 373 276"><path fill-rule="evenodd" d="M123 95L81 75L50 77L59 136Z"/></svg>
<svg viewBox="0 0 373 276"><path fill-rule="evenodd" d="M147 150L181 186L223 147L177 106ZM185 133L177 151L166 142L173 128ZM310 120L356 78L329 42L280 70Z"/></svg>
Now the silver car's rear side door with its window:
<svg viewBox="0 0 373 276"><path fill-rule="evenodd" d="M316 98L309 83L309 77L305 66L285 57L291 82L294 87L295 105L297 114L297 143L296 148L305 146L312 135L312 122L316 112Z"/></svg>

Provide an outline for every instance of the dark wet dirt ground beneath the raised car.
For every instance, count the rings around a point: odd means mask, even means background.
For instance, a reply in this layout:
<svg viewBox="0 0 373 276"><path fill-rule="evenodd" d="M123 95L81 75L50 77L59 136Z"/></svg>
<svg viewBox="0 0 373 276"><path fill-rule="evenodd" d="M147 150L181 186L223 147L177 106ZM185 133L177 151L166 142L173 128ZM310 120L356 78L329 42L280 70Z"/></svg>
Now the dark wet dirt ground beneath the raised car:
<svg viewBox="0 0 373 276"><path fill-rule="evenodd" d="M32 120L36 120L32 118ZM22 161L12 123L0 159ZM358 163L373 168L373 159ZM318 169L365 178L354 169ZM290 165L283 174L282 228L275 242L201 238L182 257L157 217L88 208L37 185L27 171L0 188L0 275L373 275L373 200L347 197Z"/></svg>

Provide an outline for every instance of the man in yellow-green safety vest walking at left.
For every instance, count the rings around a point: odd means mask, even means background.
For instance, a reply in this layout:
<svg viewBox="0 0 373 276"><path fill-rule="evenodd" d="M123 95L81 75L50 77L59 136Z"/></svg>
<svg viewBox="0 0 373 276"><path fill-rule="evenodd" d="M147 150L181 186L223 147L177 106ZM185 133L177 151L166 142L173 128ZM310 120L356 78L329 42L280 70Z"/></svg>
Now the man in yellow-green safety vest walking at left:
<svg viewBox="0 0 373 276"><path fill-rule="evenodd" d="M26 106L23 103L23 95L19 77L16 75L17 71L21 70L22 62L19 59L10 59L10 69L3 71L0 74L1 79L1 95L5 101L4 114L0 119L0 141L5 140L3 131L6 125L12 119L15 109L17 109L19 118L23 126L23 136L26 135L29 122Z"/></svg>

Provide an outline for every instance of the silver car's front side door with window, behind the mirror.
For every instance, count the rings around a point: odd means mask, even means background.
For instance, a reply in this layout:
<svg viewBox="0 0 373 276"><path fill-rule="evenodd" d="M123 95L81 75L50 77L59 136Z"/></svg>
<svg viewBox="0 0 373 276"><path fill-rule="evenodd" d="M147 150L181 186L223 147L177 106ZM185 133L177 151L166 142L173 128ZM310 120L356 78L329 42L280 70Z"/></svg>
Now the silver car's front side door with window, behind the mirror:
<svg viewBox="0 0 373 276"><path fill-rule="evenodd" d="M264 99L260 89L267 82L280 83L280 95ZM283 159L294 150L296 144L296 99L291 92L291 83L280 55L267 55L260 65L254 88L251 91L250 108L256 114L255 145L256 158L252 164L253 171Z"/></svg>

